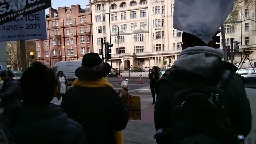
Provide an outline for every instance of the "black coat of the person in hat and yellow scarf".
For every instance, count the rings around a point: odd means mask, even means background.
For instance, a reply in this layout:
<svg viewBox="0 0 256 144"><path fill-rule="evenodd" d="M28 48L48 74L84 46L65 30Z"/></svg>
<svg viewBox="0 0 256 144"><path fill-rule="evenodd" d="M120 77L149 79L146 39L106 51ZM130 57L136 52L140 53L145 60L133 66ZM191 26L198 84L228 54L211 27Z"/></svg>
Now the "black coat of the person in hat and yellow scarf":
<svg viewBox="0 0 256 144"><path fill-rule="evenodd" d="M128 122L124 103L110 87L71 87L61 107L83 126L89 143L115 144L114 130L125 129Z"/></svg>

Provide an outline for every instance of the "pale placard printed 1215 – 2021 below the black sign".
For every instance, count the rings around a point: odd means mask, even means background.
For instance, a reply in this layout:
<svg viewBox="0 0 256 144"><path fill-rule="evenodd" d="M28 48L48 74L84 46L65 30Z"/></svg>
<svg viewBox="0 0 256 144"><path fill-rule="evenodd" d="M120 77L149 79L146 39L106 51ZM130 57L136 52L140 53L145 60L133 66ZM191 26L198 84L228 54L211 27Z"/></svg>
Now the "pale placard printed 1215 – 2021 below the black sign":
<svg viewBox="0 0 256 144"><path fill-rule="evenodd" d="M0 25L0 42L47 38L45 19L43 10Z"/></svg>

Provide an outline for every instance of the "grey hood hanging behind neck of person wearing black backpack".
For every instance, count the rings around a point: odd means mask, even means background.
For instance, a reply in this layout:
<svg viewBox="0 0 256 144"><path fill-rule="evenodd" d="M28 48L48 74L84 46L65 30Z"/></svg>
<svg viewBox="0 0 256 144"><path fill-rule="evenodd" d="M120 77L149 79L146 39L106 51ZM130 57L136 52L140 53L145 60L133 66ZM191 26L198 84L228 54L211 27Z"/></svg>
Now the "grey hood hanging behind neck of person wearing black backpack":
<svg viewBox="0 0 256 144"><path fill-rule="evenodd" d="M174 66L207 77L212 74L215 64L223 59L222 49L208 46L188 47L182 50Z"/></svg>

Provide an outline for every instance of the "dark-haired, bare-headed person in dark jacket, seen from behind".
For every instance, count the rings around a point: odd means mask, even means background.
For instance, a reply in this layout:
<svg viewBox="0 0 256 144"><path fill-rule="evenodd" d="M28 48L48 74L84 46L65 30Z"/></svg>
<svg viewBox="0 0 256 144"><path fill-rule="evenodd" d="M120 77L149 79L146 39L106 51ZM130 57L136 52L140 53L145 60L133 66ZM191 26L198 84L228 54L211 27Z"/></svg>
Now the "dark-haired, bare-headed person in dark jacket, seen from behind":
<svg viewBox="0 0 256 144"><path fill-rule="evenodd" d="M20 79L23 102L7 124L14 143L86 144L83 127L50 101L58 91L55 73L34 62Z"/></svg>

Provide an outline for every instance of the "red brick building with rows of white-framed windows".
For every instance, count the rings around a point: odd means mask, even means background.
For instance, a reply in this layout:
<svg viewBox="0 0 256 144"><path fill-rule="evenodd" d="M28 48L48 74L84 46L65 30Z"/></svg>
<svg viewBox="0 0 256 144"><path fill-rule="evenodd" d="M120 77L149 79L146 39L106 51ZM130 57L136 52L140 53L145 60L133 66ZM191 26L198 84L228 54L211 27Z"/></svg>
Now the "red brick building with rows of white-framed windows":
<svg viewBox="0 0 256 144"><path fill-rule="evenodd" d="M93 52L92 14L89 6L49 8L47 39L36 40L37 61L53 67L55 63L78 60Z"/></svg>

